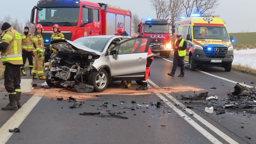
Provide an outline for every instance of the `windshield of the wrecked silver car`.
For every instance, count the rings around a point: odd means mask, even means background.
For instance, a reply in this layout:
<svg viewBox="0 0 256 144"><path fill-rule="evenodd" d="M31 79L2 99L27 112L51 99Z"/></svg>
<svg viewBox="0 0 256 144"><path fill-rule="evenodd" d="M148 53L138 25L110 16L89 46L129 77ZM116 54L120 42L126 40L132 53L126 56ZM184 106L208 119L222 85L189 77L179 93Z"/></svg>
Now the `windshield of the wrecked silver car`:
<svg viewBox="0 0 256 144"><path fill-rule="evenodd" d="M95 51L102 52L105 45L108 43L109 38L96 38L96 37L84 37L74 40L74 43L84 45Z"/></svg>

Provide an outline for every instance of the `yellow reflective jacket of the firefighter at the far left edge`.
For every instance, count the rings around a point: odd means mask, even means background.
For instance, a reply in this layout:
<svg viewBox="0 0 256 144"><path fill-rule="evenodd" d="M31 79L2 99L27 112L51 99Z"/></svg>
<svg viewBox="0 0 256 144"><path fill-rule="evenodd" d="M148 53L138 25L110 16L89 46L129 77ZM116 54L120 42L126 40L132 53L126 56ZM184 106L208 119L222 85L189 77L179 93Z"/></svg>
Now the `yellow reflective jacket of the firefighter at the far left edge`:
<svg viewBox="0 0 256 144"><path fill-rule="evenodd" d="M1 61L22 65L21 35L13 27L4 30L0 40Z"/></svg>

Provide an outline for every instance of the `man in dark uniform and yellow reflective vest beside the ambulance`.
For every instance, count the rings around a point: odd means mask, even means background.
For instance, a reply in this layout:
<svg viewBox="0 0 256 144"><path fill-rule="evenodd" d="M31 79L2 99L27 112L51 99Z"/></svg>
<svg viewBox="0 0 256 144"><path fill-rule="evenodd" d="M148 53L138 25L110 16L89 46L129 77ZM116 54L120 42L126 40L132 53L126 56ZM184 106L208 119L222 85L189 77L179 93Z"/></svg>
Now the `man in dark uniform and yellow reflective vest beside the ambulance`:
<svg viewBox="0 0 256 144"><path fill-rule="evenodd" d="M167 73L174 77L178 64L181 64L181 74L178 77L185 75L184 57L186 56L187 42L182 38L182 34L176 34L177 39L174 42L174 62L172 72Z"/></svg>

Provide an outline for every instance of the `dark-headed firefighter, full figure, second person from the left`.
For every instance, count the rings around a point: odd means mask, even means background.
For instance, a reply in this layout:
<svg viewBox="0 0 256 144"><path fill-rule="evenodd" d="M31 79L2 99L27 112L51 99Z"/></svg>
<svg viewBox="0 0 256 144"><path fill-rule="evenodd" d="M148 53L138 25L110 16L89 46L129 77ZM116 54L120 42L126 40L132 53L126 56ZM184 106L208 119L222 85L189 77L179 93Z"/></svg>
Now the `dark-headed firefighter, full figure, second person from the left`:
<svg viewBox="0 0 256 144"><path fill-rule="evenodd" d="M24 33L21 35L22 38L22 59L23 65L20 67L21 75L26 76L25 73L25 64L28 59L30 75L32 75L31 71L33 69L33 44L32 44L32 34L29 33L29 28L24 27Z"/></svg>

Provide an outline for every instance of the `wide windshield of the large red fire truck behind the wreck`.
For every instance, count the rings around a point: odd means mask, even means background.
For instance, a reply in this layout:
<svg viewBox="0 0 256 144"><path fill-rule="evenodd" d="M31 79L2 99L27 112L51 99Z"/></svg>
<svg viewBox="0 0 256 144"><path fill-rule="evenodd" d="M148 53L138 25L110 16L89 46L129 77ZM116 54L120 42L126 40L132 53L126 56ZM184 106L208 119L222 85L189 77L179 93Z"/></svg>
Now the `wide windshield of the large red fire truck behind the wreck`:
<svg viewBox="0 0 256 144"><path fill-rule="evenodd" d="M79 8L39 8L37 23L44 26L77 26Z"/></svg>

